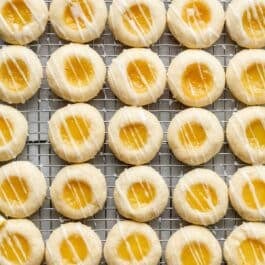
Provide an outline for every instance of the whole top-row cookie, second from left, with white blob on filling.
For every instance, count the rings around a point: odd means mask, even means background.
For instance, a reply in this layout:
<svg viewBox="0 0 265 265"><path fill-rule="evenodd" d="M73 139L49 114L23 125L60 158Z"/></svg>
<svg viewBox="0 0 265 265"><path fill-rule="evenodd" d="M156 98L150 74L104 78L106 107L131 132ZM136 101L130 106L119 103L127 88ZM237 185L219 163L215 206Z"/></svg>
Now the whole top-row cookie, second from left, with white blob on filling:
<svg viewBox="0 0 265 265"><path fill-rule="evenodd" d="M104 0L52 0L50 21L65 40L86 43L102 34L107 20Z"/></svg>

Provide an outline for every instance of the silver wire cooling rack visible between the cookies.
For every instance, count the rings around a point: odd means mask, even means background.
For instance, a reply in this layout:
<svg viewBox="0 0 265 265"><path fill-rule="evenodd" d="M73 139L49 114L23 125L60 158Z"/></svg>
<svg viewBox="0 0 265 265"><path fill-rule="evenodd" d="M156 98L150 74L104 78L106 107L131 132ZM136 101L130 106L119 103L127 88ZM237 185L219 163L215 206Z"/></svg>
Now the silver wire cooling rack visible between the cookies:
<svg viewBox="0 0 265 265"><path fill-rule="evenodd" d="M48 5L50 4L50 0L46 0L46 2ZM169 0L165 0L167 8L169 2ZM226 9L229 2L230 0L221 0L224 9ZM106 0L106 3L109 7L111 1ZM64 44L66 43L55 35L52 26L48 24L46 32L43 36L37 42L29 45L29 47L38 54L45 70L47 60L49 59L51 53ZM0 46L3 45L3 43L0 43ZM119 55L124 49L120 43L114 40L108 27L106 27L102 37L90 43L90 46L103 57L107 66L111 63L111 60ZM184 50L184 47L182 47L173 38L169 31L166 30L161 39L154 44L151 49L159 54L165 66L168 67L171 60L179 52ZM207 51L220 60L224 68L226 68L229 60L239 51L239 48L230 40L228 34L224 30L219 41L211 48L207 49ZM104 86L103 91L89 103L101 112L106 126L108 125L108 122L114 112L122 107L122 103L115 98L107 84ZM56 173L65 165L65 163L54 154L50 146L47 135L47 122L55 110L65 106L66 104L67 102L59 99L50 91L45 77L38 94L26 104L16 106L20 111L22 111L29 122L28 141L24 152L17 158L17 160L29 160L39 166L41 171L45 174L49 186L51 185ZM218 116L223 127L225 127L226 122L232 113L241 107L242 106L231 97L228 89L226 88L223 95L214 104L209 106L208 109ZM146 108L157 116L164 129L162 147L159 154L150 163L150 165L158 170L162 176L164 176L168 187L170 188L170 202L161 217L152 221L150 225L157 231L162 247L165 249L165 245L170 235L180 227L187 225L186 222L177 216L175 210L172 208L171 198L172 190L178 182L178 179L192 168L181 164L174 158L166 141L166 131L170 120L176 113L185 109L185 107L177 103L167 90L157 103L151 104ZM115 159L106 141L95 159L89 162L100 168L106 176L108 184L108 197L106 205L101 212L96 214L93 218L83 220L82 222L91 226L98 233L104 243L108 231L117 222L117 220L122 219L115 209L113 189L117 175L124 168L128 167L128 165L125 165ZM233 156L227 146L227 143L225 142L222 150L209 163L203 165L202 167L216 171L227 182L229 177L239 166L242 166L241 162ZM49 194L47 195L42 208L31 217L31 220L39 227L45 240L61 223L70 221L56 212L51 204ZM209 228L222 245L224 239L228 236L234 226L241 223L241 218L231 207L229 207L226 216L219 223L210 226ZM102 260L102 264L106 263ZM160 264L165 264L164 257L162 257Z"/></svg>

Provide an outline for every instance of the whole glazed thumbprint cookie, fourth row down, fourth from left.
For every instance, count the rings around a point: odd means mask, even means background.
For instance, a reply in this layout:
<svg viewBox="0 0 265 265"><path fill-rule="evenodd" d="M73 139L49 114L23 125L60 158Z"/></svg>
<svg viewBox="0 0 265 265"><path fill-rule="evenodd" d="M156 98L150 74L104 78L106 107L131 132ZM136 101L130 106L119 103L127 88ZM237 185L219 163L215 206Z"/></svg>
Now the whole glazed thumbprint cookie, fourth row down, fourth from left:
<svg viewBox="0 0 265 265"><path fill-rule="evenodd" d="M173 205L187 222L214 224L226 214L228 190L215 172L197 168L180 178L174 190Z"/></svg>

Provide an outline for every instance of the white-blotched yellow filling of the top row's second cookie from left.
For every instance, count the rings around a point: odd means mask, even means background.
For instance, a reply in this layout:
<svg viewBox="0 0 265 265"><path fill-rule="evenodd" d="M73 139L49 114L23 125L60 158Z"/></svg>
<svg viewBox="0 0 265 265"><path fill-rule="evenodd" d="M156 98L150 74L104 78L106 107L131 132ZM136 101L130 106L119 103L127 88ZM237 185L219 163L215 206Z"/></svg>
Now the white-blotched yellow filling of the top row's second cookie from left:
<svg viewBox="0 0 265 265"><path fill-rule="evenodd" d="M90 0L70 0L64 10L64 22L71 29L87 27L93 20L94 8Z"/></svg>

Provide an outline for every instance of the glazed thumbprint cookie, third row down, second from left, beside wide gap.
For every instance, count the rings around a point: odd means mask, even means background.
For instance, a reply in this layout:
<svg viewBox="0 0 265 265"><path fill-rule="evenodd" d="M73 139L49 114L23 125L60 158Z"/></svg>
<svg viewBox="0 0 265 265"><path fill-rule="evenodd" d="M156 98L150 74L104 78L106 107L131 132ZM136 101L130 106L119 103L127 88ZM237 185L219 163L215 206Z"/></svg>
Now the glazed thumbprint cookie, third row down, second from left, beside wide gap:
<svg viewBox="0 0 265 265"><path fill-rule="evenodd" d="M62 159L81 163L95 157L104 143L105 126L99 111L77 103L58 109L49 121L49 139Z"/></svg>

